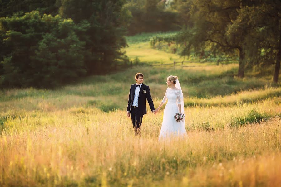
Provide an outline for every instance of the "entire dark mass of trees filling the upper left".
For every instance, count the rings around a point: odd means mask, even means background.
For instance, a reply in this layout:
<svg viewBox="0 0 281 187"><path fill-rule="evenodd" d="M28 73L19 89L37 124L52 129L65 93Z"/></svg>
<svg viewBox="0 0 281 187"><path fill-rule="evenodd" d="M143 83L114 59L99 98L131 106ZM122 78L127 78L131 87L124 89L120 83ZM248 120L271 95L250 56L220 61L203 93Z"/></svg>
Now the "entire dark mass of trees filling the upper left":
<svg viewBox="0 0 281 187"><path fill-rule="evenodd" d="M0 85L54 87L127 63L124 3L1 1Z"/></svg>

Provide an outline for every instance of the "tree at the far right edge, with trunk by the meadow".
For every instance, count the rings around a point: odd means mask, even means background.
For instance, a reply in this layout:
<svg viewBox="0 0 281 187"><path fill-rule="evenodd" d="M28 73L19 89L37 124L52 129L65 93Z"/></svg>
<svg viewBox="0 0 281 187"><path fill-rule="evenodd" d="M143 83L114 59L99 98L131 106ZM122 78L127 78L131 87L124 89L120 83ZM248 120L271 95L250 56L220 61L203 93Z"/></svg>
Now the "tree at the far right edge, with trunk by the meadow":
<svg viewBox="0 0 281 187"><path fill-rule="evenodd" d="M240 7L238 19L229 27L231 36L244 29L247 65L261 69L274 65L274 82L278 82L281 60L281 2L260 1Z"/></svg>

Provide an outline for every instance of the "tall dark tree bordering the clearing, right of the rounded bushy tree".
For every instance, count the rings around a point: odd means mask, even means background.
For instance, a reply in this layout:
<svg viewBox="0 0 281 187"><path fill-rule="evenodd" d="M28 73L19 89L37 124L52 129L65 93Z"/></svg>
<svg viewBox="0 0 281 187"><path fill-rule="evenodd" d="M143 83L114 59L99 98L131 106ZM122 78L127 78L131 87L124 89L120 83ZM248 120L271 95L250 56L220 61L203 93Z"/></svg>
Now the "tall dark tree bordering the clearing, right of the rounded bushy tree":
<svg viewBox="0 0 281 187"><path fill-rule="evenodd" d="M88 74L106 71L114 67L126 46L126 9L123 0L60 0L59 13L71 18L79 26L85 26L78 34L85 44L85 65Z"/></svg>

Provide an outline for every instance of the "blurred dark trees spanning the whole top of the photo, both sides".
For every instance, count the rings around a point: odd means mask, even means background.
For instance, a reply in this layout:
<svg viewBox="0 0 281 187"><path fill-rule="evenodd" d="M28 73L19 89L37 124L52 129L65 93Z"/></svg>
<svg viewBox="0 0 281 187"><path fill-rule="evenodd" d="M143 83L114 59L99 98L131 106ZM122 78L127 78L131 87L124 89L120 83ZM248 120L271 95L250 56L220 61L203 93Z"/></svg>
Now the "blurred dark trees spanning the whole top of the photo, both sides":
<svg viewBox="0 0 281 187"><path fill-rule="evenodd" d="M238 60L240 78L245 71L263 74L270 68L278 82L280 1L10 0L0 5L2 87L50 88L130 67L125 36L167 31L176 32L151 36L150 48Z"/></svg>

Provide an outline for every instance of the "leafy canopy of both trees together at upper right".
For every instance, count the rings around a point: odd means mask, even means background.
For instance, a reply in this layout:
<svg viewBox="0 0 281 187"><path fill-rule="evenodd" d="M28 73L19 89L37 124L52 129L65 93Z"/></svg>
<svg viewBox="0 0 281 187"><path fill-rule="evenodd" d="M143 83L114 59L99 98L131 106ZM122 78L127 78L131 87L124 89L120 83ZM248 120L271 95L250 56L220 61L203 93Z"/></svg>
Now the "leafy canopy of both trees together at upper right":
<svg viewBox="0 0 281 187"><path fill-rule="evenodd" d="M175 1L174 8L181 10L178 2L182 1ZM244 77L244 71L253 65L264 69L275 63L280 38L280 2L194 0L183 4L190 5L186 14L191 24L183 27L177 36L183 48L181 55L195 52L202 57L208 48L214 57L239 56L239 77Z"/></svg>

